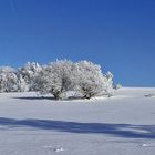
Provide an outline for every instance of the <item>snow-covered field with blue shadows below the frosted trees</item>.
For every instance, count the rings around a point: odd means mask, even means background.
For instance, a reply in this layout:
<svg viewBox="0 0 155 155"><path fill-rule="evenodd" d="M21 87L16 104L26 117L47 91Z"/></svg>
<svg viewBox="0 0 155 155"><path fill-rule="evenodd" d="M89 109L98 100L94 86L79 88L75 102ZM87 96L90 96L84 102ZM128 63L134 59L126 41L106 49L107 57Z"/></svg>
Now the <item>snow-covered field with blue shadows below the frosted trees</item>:
<svg viewBox="0 0 155 155"><path fill-rule="evenodd" d="M154 155L155 89L53 101L0 94L0 155Z"/></svg>

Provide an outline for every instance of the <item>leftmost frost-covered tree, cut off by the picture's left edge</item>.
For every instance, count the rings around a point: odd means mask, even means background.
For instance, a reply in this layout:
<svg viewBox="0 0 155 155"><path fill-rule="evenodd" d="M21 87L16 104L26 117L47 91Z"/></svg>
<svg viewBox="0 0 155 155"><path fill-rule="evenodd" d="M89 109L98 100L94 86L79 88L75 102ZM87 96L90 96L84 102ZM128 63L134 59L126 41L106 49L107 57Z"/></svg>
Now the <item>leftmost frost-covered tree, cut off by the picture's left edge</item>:
<svg viewBox="0 0 155 155"><path fill-rule="evenodd" d="M17 92L18 78L12 68L0 68L0 92Z"/></svg>

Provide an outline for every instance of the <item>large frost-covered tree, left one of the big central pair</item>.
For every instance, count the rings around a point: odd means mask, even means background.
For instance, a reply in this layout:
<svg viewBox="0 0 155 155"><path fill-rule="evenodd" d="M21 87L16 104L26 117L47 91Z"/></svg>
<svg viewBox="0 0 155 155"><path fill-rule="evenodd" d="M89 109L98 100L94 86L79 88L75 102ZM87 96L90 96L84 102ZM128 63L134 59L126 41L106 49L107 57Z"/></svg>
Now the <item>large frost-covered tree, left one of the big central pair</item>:
<svg viewBox="0 0 155 155"><path fill-rule="evenodd" d="M51 93L55 100L62 97L66 91L73 90L74 64L68 60L61 60L44 66L37 78L38 91Z"/></svg>

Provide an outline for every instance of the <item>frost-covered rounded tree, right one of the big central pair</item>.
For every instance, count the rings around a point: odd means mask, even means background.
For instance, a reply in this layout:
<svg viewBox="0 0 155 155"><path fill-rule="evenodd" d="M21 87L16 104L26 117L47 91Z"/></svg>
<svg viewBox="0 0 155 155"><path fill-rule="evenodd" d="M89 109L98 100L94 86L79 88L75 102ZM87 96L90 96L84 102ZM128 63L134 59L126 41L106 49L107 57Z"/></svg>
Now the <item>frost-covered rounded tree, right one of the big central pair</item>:
<svg viewBox="0 0 155 155"><path fill-rule="evenodd" d="M75 63L74 82L76 82L76 90L80 91L85 99L95 96L105 87L101 66L89 61Z"/></svg>

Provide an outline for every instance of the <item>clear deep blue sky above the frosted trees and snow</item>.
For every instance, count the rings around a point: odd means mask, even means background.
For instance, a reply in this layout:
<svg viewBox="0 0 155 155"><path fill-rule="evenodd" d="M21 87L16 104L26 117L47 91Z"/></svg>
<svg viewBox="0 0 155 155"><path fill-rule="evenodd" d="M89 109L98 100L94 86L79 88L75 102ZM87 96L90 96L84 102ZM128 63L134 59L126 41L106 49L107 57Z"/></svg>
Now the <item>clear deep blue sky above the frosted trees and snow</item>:
<svg viewBox="0 0 155 155"><path fill-rule="evenodd" d="M0 65L55 59L155 86L155 0L0 0Z"/></svg>

